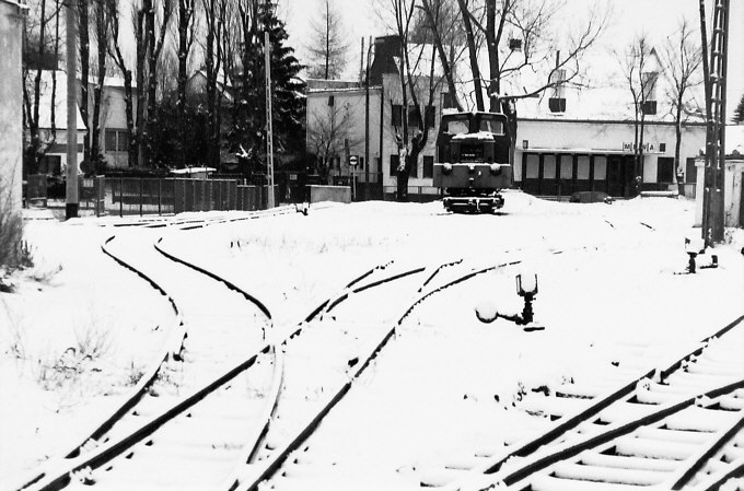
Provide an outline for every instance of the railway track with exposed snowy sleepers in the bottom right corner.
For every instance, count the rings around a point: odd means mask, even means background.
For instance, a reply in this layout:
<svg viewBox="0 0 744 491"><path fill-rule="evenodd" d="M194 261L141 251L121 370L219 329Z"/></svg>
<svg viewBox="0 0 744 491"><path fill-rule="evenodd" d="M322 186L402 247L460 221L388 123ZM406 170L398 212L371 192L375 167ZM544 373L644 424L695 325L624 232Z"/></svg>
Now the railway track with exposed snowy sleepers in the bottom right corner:
<svg viewBox="0 0 744 491"><path fill-rule="evenodd" d="M744 475L743 348L744 316L619 389L568 383L533 394L522 408L555 425L450 469L439 489L719 489Z"/></svg>

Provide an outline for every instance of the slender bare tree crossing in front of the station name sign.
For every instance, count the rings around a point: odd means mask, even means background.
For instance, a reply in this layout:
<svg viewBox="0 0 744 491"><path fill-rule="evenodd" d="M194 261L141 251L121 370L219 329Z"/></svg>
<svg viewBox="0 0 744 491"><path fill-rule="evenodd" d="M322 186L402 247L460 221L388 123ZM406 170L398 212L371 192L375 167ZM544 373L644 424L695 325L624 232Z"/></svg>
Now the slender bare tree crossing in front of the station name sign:
<svg viewBox="0 0 744 491"><path fill-rule="evenodd" d="M632 97L633 109L633 177L636 194L640 191L644 157L644 126L647 114L655 114L654 91L659 79L655 49L646 34L638 35L625 52L617 55L624 82Z"/></svg>

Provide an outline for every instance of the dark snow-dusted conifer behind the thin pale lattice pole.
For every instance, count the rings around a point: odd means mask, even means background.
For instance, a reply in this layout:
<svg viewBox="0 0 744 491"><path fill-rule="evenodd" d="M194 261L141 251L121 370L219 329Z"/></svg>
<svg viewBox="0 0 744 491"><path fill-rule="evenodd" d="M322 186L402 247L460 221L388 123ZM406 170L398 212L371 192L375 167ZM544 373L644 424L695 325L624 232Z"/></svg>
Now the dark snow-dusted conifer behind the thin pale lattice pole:
<svg viewBox="0 0 744 491"><path fill-rule="evenodd" d="M261 4L258 22L252 33L244 34L245 48L237 74L239 97L233 109L233 129L228 136L232 151L243 147L256 161L266 155L266 82L264 71L264 30L271 44L274 149L279 155L304 148L303 82L298 79L302 66L294 49L286 45L284 23L277 17L276 7ZM244 24L245 25L245 24Z"/></svg>

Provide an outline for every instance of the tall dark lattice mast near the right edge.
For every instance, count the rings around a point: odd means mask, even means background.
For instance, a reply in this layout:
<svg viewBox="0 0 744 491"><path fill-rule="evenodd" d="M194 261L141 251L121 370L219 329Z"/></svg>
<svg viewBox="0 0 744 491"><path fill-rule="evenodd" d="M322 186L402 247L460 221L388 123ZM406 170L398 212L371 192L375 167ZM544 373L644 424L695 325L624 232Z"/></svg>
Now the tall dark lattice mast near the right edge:
<svg viewBox="0 0 744 491"><path fill-rule="evenodd" d="M705 190L702 196L702 238L706 247L723 241L725 174L725 79L729 50L729 2L716 0L710 44L710 66L706 75L708 131L706 132ZM700 23L705 36L705 10L700 1ZM705 39L704 39L705 40ZM704 45L704 54L705 54Z"/></svg>

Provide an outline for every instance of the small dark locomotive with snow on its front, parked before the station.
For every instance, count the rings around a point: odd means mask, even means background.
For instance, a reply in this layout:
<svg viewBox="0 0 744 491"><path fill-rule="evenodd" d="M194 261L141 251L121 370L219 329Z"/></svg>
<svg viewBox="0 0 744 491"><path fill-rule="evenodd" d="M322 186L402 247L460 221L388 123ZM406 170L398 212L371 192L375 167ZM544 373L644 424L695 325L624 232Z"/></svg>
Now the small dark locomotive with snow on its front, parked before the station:
<svg viewBox="0 0 744 491"><path fill-rule="evenodd" d="M450 113L437 136L434 186L444 189L453 212L492 212L503 207L501 189L511 186L507 116Z"/></svg>

